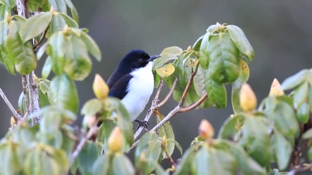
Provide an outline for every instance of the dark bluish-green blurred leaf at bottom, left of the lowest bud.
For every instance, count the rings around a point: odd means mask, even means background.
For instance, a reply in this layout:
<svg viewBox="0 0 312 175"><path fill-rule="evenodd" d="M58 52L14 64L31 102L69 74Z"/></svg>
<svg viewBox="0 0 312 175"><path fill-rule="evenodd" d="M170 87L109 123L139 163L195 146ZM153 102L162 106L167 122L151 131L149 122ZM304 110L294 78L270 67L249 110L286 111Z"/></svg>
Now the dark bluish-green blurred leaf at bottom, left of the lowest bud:
<svg viewBox="0 0 312 175"><path fill-rule="evenodd" d="M99 151L95 143L87 142L77 157L80 172L82 174L91 174L92 166L98 157Z"/></svg>

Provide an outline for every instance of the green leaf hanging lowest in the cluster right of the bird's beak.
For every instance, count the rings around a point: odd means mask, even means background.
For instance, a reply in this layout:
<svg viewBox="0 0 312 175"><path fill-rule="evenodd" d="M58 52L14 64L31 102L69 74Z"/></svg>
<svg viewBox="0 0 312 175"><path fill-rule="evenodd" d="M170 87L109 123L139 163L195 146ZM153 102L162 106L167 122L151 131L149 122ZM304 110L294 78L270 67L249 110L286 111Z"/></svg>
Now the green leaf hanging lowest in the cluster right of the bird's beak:
<svg viewBox="0 0 312 175"><path fill-rule="evenodd" d="M226 107L227 96L224 84L213 81L209 76L206 76L206 91L208 100L212 104L215 104L217 108Z"/></svg>

